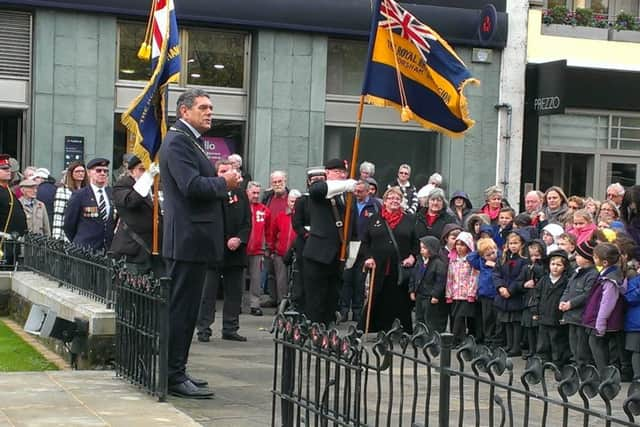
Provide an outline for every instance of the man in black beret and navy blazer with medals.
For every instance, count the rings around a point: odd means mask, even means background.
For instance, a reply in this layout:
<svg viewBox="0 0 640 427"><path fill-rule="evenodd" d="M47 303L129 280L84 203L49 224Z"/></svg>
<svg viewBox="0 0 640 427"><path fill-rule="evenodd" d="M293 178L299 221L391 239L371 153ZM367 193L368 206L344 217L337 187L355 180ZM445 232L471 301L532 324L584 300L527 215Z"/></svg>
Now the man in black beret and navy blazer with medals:
<svg viewBox="0 0 640 427"><path fill-rule="evenodd" d="M87 163L89 185L73 193L64 211L64 232L74 244L105 251L113 239L114 209L109 180L109 160Z"/></svg>

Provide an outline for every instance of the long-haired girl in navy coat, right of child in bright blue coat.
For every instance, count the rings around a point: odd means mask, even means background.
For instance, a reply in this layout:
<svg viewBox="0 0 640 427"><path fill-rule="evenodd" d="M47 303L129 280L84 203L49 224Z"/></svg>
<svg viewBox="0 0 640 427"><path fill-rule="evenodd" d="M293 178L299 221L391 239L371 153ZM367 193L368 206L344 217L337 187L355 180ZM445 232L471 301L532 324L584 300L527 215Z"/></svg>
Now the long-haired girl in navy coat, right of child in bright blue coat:
<svg viewBox="0 0 640 427"><path fill-rule="evenodd" d="M524 276L528 260L524 257L524 239L517 232L507 236L507 245L500 263L494 270L493 281L498 294L494 304L498 321L502 323L510 357L520 356L522 339L522 309L524 308Z"/></svg>

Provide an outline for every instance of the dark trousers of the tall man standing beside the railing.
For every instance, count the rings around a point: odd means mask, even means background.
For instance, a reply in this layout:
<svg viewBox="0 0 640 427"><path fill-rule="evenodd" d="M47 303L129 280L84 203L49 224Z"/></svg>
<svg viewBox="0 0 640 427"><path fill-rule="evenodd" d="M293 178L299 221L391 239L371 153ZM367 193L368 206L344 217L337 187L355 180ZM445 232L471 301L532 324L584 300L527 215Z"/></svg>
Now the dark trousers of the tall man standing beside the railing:
<svg viewBox="0 0 640 427"><path fill-rule="evenodd" d="M187 359L198 319L195 308L200 306L207 264L167 260L167 267L171 277L168 375L173 385L187 380Z"/></svg>

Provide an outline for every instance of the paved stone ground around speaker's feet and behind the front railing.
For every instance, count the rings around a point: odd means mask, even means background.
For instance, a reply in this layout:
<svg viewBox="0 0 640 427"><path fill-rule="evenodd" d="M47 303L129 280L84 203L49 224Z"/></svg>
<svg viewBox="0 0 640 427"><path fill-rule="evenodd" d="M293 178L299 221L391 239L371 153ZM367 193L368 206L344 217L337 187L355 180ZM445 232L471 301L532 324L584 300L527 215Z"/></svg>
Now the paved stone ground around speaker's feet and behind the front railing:
<svg viewBox="0 0 640 427"><path fill-rule="evenodd" d="M239 332L248 338L248 342L222 340L219 318L213 325L214 334L211 342L200 343L194 339L189 372L195 377L209 381L211 389L216 394L213 399L189 400L170 396L167 403L158 403L155 398L116 378L113 371L0 374L0 427L268 426L271 424L274 358L270 328L274 311L265 309L263 317L241 315ZM218 314L220 313L221 310L218 311ZM346 330L346 327L340 325L339 329ZM519 358L513 361L516 371L514 382L518 383L519 372L522 372L524 362ZM397 378L394 383L396 381ZM433 381L433 398L437 399L437 373L434 373ZM461 400L464 400L467 402L465 412L470 412L473 406L468 399L471 399L471 396L458 399L458 390L454 383L451 410L457 412ZM405 383L405 386L407 384ZM470 394L471 387L468 390ZM488 393L485 391L481 395L481 409L485 414ZM623 399L623 396L626 396L626 384L623 385L619 399ZM382 402L383 408L386 403L385 398ZM516 419L522 416L521 404L522 397L516 397ZM619 408L620 404L621 402L615 406ZM435 421L437 408L433 406L433 402L431 405L427 414ZM424 409L423 405L419 405L418 414L425 414ZM537 408L535 412L539 415L542 408ZM551 412L551 423L554 424L559 421L557 417L561 416L561 411L556 408ZM619 409L615 412L619 413ZM382 411L383 416L384 413L385 411ZM574 417L576 415L573 414ZM581 421L582 418L578 417ZM465 416L465 420L467 418ZM473 420L473 417L469 419ZM589 424L602 425L603 422L592 418Z"/></svg>

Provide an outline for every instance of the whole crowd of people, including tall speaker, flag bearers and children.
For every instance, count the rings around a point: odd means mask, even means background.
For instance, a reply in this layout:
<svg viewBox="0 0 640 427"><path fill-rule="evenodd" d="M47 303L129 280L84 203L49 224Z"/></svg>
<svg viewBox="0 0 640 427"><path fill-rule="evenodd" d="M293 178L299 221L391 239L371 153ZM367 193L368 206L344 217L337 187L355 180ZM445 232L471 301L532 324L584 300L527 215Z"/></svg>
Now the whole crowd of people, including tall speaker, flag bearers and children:
<svg viewBox="0 0 640 427"><path fill-rule="evenodd" d="M222 288L222 339L246 341L245 285L254 316L286 298L327 326L353 321L375 332L399 319L411 333L421 322L456 344L473 335L512 357L616 364L640 381L640 187L612 184L598 201L554 186L526 194L517 213L497 186L479 208L459 189L447 198L438 173L417 189L408 164L386 185L368 161L347 179L341 159L308 169L303 191L282 170L262 185L239 155L215 165L207 157L212 110L206 92L183 93L160 164L127 155L113 186L107 159L73 162L56 183L46 169L20 174L0 156L2 239L52 235L171 277L172 394L213 395L186 371L191 340L210 341ZM151 249L158 173L161 257Z"/></svg>

